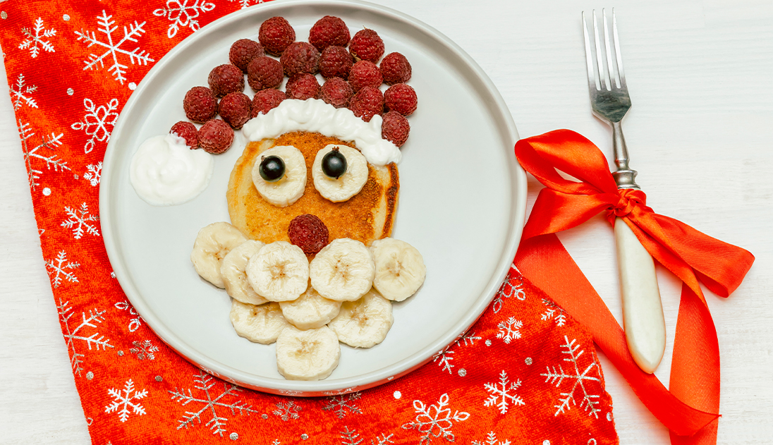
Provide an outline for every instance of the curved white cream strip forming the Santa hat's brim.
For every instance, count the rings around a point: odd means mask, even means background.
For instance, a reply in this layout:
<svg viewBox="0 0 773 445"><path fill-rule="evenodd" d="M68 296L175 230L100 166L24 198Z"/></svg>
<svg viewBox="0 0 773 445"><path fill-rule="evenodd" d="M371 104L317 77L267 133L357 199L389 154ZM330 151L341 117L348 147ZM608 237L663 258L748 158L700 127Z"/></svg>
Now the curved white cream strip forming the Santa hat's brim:
<svg viewBox="0 0 773 445"><path fill-rule="evenodd" d="M324 100L282 100L267 114L258 114L242 127L250 141L276 138L288 131L311 131L342 141L353 141L373 165L400 162L400 148L381 138L381 117L370 122L356 117L348 108L335 108Z"/></svg>

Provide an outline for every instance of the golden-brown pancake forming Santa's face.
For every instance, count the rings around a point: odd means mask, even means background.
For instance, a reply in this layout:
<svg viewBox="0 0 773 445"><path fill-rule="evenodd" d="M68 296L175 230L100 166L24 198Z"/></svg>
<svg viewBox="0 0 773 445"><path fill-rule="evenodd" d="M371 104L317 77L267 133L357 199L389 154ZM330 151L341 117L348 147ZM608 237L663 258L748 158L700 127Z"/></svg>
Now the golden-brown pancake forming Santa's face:
<svg viewBox="0 0 773 445"><path fill-rule="evenodd" d="M250 142L233 166L228 183L228 212L231 223L244 235L264 243L289 241L288 226L293 218L311 213L328 227L330 240L357 239L369 246L375 239L392 233L400 181L397 165L377 167L368 164L368 180L363 189L345 202L330 202L314 188L312 163L317 151L328 144L353 144L318 133L294 131L276 139ZM278 207L265 201L252 182L252 167L258 155L274 146L292 145L306 159L306 189L298 201ZM354 147L356 148L356 147Z"/></svg>

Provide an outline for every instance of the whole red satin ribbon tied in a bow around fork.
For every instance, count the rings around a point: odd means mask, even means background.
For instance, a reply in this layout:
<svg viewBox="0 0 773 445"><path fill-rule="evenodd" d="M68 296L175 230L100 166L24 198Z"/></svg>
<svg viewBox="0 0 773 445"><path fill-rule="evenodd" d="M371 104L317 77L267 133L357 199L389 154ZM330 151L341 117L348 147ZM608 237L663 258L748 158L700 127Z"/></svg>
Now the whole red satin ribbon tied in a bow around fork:
<svg viewBox="0 0 773 445"><path fill-rule="evenodd" d="M719 346L699 281L727 297L741 284L754 256L658 215L640 190L618 190L604 155L574 131L523 139L515 151L523 168L546 186L523 228L516 267L591 331L642 403L669 428L671 443L717 443ZM557 170L580 182L564 179ZM622 218L652 257L683 281L670 392L635 364L620 325L555 235L599 212L612 223Z"/></svg>

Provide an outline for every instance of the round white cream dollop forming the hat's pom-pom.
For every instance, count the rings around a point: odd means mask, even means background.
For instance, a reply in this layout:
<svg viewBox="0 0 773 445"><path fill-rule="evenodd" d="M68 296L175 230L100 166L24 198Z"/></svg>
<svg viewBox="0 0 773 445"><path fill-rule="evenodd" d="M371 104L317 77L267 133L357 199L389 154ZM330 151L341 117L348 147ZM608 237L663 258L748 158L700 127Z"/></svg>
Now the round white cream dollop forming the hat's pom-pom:
<svg viewBox="0 0 773 445"><path fill-rule="evenodd" d="M206 189L214 165L213 155L191 150L176 134L162 134L140 144L131 158L129 180L148 204L174 206Z"/></svg>

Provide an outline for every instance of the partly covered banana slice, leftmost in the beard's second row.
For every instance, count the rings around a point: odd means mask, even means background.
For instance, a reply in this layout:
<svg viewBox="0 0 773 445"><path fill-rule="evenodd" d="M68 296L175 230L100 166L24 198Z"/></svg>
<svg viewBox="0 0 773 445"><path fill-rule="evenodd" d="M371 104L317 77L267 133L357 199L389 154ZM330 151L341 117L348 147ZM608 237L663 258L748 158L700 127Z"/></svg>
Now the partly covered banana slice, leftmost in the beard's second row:
<svg viewBox="0 0 773 445"><path fill-rule="evenodd" d="M233 300L230 318L240 337L264 345L277 341L279 333L290 326L278 303L256 306Z"/></svg>

